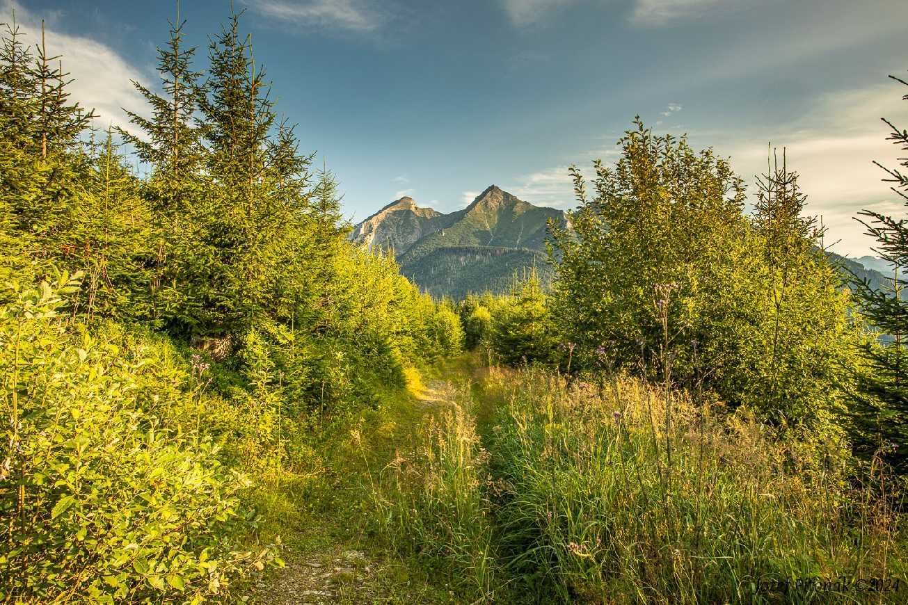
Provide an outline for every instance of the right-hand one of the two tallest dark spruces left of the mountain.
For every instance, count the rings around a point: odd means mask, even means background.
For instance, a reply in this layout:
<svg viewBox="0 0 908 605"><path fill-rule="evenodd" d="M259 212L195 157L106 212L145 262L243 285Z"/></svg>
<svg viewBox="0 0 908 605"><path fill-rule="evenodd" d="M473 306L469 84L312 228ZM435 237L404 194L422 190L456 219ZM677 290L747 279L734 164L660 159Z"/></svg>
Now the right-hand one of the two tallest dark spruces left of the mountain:
<svg viewBox="0 0 908 605"><path fill-rule="evenodd" d="M251 39L240 34L240 14L232 13L212 40L209 60L201 112L210 183L196 215L207 256L198 328L224 336L265 312L283 217L268 163L275 115L264 69L253 59Z"/></svg>

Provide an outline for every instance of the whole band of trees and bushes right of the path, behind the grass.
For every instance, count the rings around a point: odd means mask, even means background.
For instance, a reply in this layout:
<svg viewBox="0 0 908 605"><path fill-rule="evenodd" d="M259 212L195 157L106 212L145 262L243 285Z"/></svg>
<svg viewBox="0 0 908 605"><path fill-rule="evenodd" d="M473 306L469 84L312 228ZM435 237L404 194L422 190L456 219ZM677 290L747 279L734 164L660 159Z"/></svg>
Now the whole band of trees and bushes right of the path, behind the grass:
<svg viewBox="0 0 908 605"><path fill-rule="evenodd" d="M908 149L905 136L893 129ZM569 228L550 229L553 287L531 272L507 296L467 297L467 345L512 366L703 388L785 438L883 455L902 472L901 278L877 288L843 277L784 157L757 180L748 213L744 182L711 149L639 120L618 144L614 167L594 163L592 192L571 169L577 209ZM903 223L861 216L901 267Z"/></svg>

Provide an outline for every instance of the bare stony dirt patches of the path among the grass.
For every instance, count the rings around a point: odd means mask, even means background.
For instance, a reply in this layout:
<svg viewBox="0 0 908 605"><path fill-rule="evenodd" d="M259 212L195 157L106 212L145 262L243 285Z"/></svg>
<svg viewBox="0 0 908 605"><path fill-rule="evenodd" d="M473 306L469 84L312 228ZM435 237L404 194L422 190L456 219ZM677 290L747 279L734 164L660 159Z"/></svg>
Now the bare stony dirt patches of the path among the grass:
<svg viewBox="0 0 908 605"><path fill-rule="evenodd" d="M451 405L455 396L456 388L449 380L429 380L414 402L416 418ZM393 441L406 447L411 436L411 432L403 431ZM331 524L337 522L343 520L326 520L321 527L300 523L301 533L306 534L301 543L306 546L288 547L281 554L285 567L262 578L252 588L250 602L267 605L450 602L437 588L430 589L420 585L418 577L411 578L412 570L406 563L393 555L370 552L364 536L345 539L332 532Z"/></svg>

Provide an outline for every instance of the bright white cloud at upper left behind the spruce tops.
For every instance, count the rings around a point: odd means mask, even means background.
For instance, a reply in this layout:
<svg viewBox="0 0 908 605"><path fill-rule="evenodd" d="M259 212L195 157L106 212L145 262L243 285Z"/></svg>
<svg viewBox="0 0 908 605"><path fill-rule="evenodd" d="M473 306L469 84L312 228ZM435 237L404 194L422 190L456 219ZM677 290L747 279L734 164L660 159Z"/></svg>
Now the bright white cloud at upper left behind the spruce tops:
<svg viewBox="0 0 908 605"><path fill-rule="evenodd" d="M25 40L34 44L41 38L41 16L35 15L12 0L0 0L0 22L15 23L25 34ZM145 101L136 92L131 80L143 82L145 78L133 65L117 54L110 46L84 36L64 34L55 28L59 14L44 15L47 54L62 55L64 72L69 72L71 99L85 108L94 108L95 125L106 128L108 124L129 128L123 107L141 110Z"/></svg>

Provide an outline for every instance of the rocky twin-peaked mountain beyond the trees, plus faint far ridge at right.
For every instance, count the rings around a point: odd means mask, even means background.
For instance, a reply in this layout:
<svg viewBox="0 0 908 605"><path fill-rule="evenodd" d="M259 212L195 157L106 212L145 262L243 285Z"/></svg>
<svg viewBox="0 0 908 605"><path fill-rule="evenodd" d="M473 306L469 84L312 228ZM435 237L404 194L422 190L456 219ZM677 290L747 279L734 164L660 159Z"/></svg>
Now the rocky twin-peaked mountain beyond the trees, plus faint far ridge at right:
<svg viewBox="0 0 908 605"><path fill-rule="evenodd" d="M534 206L495 185L463 210L443 214L404 197L356 225L350 239L393 250L400 272L434 297L464 298L469 292L505 292L514 276L535 268L544 284L552 278L545 239L548 220L566 225L563 210ZM826 253L840 268L888 288L892 269L882 259ZM906 293L908 294L908 293Z"/></svg>

